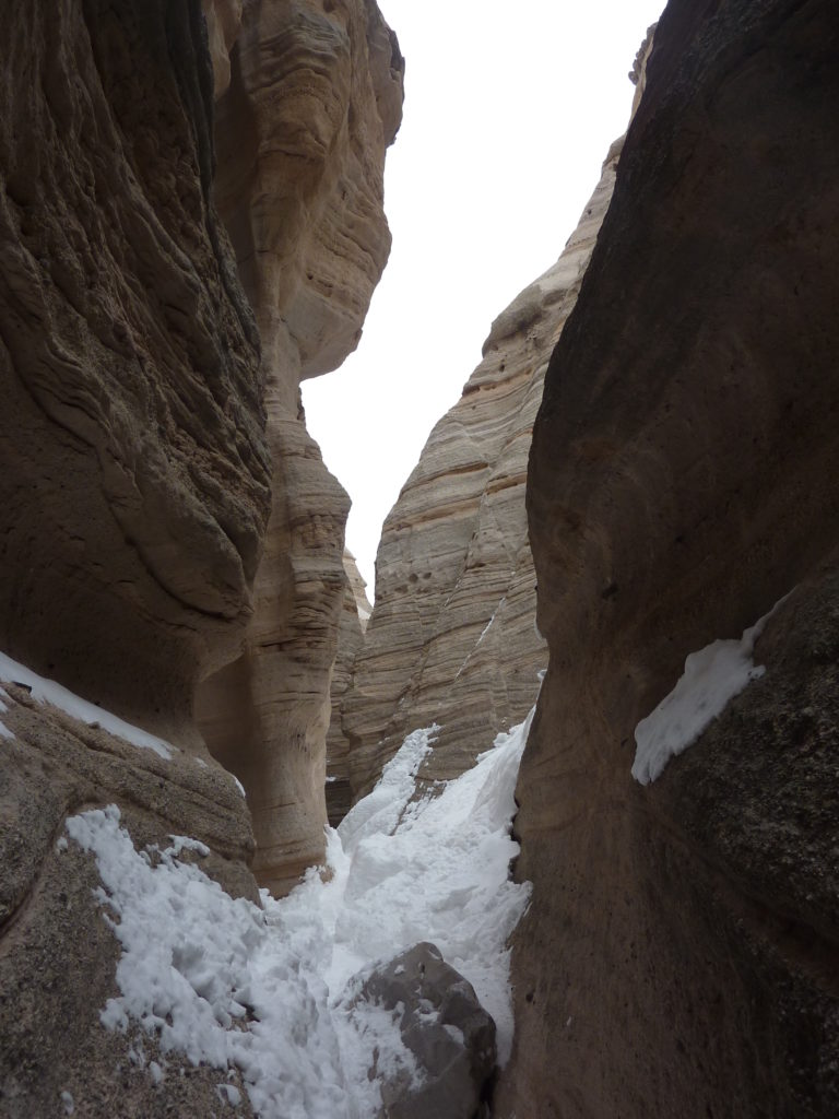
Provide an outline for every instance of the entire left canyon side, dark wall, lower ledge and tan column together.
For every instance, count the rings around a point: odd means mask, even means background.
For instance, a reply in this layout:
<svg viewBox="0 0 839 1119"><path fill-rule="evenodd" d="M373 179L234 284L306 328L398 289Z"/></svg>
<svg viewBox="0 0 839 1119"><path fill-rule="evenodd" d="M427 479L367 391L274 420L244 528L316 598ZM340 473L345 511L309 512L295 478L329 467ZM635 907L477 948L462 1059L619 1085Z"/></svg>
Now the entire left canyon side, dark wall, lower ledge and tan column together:
<svg viewBox="0 0 839 1119"><path fill-rule="evenodd" d="M194 837L207 854L180 857L253 900L249 864L282 888L321 850L348 499L299 383L356 345L387 256L403 65L370 0L326 7L32 0L6 21L0 650L94 705L63 714L0 664L15 1119L219 1103L217 1071L170 1055L161 1091L158 1042L103 1029L120 943L68 816L117 806L151 862Z"/></svg>

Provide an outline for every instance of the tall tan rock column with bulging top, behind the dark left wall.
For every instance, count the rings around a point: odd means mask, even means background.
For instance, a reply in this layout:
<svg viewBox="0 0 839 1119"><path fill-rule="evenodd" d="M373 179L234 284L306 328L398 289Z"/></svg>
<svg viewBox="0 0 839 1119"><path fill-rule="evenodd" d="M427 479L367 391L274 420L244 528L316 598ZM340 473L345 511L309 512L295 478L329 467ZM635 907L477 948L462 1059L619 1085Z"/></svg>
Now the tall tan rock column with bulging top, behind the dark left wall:
<svg viewBox="0 0 839 1119"><path fill-rule="evenodd" d="M247 790L254 871L274 891L323 854L349 510L299 387L355 348L387 260L383 172L403 68L370 0L253 0L217 103L216 199L262 338L273 502L244 651L204 683L197 712Z"/></svg>

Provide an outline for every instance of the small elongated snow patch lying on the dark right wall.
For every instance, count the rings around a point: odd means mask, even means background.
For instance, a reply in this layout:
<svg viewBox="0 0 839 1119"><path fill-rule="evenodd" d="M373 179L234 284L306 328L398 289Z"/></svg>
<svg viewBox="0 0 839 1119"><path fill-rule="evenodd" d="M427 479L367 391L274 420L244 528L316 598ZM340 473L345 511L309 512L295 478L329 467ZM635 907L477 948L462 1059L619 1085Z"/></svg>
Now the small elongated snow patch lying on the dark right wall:
<svg viewBox="0 0 839 1119"><path fill-rule="evenodd" d="M744 630L739 640L713 641L688 656L676 687L635 727L637 781L649 784L660 777L670 759L692 745L734 696L763 676L766 669L752 659L754 645L783 601Z"/></svg>

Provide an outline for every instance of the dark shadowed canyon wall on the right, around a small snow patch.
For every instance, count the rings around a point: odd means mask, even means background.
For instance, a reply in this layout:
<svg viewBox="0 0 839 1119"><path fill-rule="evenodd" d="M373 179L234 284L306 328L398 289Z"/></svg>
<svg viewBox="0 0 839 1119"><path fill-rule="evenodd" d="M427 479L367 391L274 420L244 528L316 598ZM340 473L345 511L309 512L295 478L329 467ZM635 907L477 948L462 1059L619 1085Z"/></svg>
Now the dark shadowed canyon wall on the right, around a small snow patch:
<svg viewBox="0 0 839 1119"><path fill-rule="evenodd" d="M839 25L671 0L546 378L499 1116L839 1111ZM687 653L765 675L649 787Z"/></svg>

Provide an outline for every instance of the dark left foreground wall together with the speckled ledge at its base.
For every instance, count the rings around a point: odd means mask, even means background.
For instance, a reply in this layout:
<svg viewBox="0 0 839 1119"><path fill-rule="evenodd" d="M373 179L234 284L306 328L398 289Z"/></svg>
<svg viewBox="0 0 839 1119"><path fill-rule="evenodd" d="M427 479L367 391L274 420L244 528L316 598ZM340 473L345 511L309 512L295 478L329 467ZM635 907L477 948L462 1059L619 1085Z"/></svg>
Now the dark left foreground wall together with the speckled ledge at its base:
<svg viewBox="0 0 839 1119"><path fill-rule="evenodd" d="M244 798L191 723L251 612L271 473L211 201L200 7L32 0L0 54L0 650L182 747L164 760L3 686L0 1113L210 1115L214 1071L176 1072L164 1098L103 1029L120 946L93 861L60 846L68 815L116 803L150 858L186 833L256 896Z"/></svg>

